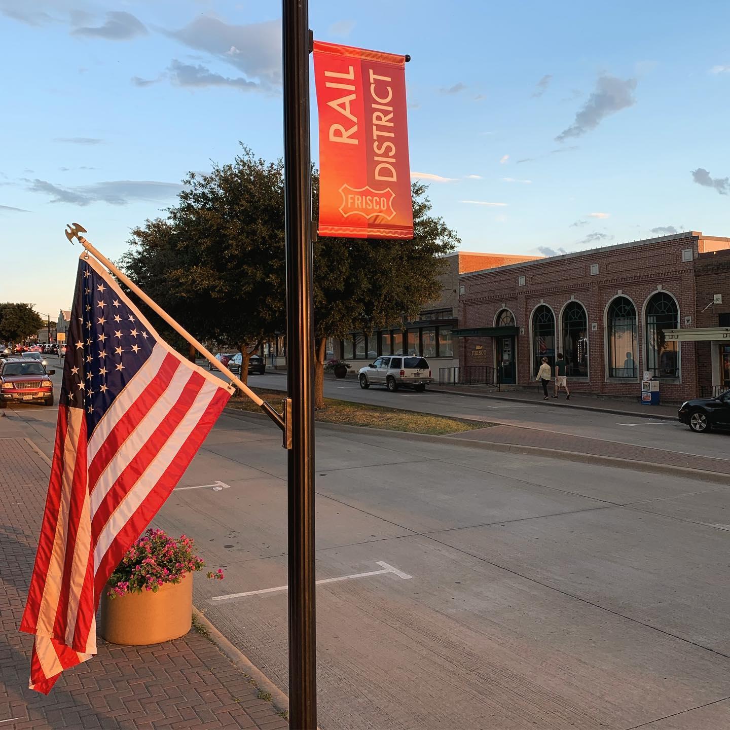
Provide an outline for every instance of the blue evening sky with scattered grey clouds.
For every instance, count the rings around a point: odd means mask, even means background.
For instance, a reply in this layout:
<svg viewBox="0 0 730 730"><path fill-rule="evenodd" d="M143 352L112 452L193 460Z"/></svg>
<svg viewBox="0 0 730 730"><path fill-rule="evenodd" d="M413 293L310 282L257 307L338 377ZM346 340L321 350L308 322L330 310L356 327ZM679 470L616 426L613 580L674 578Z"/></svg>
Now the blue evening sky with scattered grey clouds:
<svg viewBox="0 0 730 730"><path fill-rule="evenodd" d="M283 154L280 3L0 0L0 301L69 307L188 171ZM315 38L408 53L410 166L461 249L730 236L730 4L310 0ZM312 159L318 161L312 81Z"/></svg>

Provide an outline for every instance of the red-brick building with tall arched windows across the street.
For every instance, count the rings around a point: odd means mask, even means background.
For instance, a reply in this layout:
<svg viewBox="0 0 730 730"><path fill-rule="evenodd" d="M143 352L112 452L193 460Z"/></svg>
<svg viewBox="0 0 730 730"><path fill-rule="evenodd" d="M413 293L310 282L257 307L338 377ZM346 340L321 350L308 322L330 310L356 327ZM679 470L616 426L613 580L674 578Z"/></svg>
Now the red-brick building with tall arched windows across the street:
<svg viewBox="0 0 730 730"><path fill-rule="evenodd" d="M552 364L562 352L575 391L637 396L649 371L663 400L697 396L724 377L729 258L730 239L690 231L464 272L453 331L461 366L534 386L542 357ZM703 312L710 290L725 304ZM680 333L701 326L719 339Z"/></svg>

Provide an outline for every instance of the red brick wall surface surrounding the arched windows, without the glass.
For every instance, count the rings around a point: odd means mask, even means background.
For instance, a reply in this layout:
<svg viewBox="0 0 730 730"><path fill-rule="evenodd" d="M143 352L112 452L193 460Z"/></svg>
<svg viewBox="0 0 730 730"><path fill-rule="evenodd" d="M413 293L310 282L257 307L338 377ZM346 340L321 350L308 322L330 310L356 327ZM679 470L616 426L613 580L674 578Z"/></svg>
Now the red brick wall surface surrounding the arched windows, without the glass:
<svg viewBox="0 0 730 730"><path fill-rule="evenodd" d="M517 385L534 385L535 366L531 321L534 311L545 304L556 321L556 351L564 345L564 307L571 301L587 313L588 377L571 377L571 388L612 396L637 396L640 378L647 367L645 307L658 291L668 293L677 304L678 327L718 326L699 314L707 302L705 290L724 291L730 304L730 239L685 234L647 239L591 251L527 261L480 272L461 274L464 294L459 301L460 328L496 326L503 309L510 310L519 334L515 337ZM707 253L718 251L718 253ZM715 266L710 261L715 261ZM705 263L705 262L708 263ZM722 271L720 271L722 269ZM699 272L699 277L697 272ZM714 277L714 278L710 278ZM698 285L698 280L702 281ZM698 290L698 286L700 287ZM609 377L607 355L607 309L612 299L624 296L637 312L637 377ZM730 311L730 306L726 307ZM707 320L707 324L702 324ZM461 337L461 364L497 366L496 337ZM679 377L661 380L661 398L681 401L699 395L707 379L707 343L680 342Z"/></svg>

